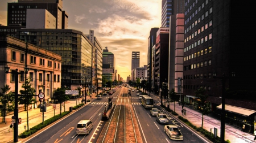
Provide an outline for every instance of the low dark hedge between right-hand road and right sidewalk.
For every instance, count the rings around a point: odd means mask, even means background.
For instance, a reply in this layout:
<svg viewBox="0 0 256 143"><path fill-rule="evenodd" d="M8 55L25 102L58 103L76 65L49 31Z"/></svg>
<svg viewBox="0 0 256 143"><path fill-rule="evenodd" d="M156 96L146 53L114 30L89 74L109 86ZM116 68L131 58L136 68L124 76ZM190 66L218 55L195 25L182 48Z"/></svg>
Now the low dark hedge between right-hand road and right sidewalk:
<svg viewBox="0 0 256 143"><path fill-rule="evenodd" d="M183 118L182 116L179 116L179 119L182 120L185 124L189 125L190 127L192 127L193 129L195 129L197 132L202 133L205 137L207 137L210 141L214 142L214 143L220 143L220 137L214 137L212 133L208 132L206 129L203 129L201 127L196 127L196 125L191 124L187 119ZM230 143L229 140L225 141L226 143Z"/></svg>

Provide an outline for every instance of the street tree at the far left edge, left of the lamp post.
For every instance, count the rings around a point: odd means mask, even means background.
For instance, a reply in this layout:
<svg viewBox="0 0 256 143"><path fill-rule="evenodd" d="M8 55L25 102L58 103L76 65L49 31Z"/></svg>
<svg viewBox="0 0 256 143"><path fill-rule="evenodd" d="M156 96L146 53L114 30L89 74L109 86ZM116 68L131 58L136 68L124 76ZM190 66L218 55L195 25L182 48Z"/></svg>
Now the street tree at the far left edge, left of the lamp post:
<svg viewBox="0 0 256 143"><path fill-rule="evenodd" d="M11 112L14 111L14 93L9 92L11 89L9 85L5 85L2 89L2 92L0 92L0 103L2 103L2 106L0 105L0 110L2 111L3 120L5 120L6 117L6 111Z"/></svg>

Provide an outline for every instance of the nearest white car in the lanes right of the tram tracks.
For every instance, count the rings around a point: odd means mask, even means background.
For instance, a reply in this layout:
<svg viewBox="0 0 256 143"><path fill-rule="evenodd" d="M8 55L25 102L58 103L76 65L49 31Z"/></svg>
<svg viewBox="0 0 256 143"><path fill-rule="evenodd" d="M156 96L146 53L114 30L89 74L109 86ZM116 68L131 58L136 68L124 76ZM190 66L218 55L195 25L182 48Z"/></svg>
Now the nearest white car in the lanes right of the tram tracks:
<svg viewBox="0 0 256 143"><path fill-rule="evenodd" d="M176 125L164 125L164 132L171 140L183 140L183 135Z"/></svg>

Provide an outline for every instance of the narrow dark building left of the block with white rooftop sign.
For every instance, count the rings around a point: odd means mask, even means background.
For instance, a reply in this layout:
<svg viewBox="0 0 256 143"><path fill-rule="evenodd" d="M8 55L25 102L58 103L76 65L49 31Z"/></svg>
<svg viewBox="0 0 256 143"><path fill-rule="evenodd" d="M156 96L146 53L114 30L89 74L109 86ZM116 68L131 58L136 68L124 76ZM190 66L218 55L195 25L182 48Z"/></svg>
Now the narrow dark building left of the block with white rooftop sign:
<svg viewBox="0 0 256 143"><path fill-rule="evenodd" d="M159 28L151 28L150 36L148 36L148 48L147 48L147 82L150 84L150 87L154 85L152 82L152 58L154 57L153 47L155 45L156 40L156 32L158 32Z"/></svg>

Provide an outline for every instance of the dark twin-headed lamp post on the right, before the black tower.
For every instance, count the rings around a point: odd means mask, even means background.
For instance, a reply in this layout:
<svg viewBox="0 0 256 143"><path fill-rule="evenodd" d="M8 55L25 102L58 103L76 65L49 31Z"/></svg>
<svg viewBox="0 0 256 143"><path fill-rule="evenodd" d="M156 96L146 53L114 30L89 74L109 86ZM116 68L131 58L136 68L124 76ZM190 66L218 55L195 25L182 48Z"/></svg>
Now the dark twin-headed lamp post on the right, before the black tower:
<svg viewBox="0 0 256 143"><path fill-rule="evenodd" d="M222 80L222 97L221 97L221 143L225 142L225 99L226 99L226 79L229 79L229 77L225 76L225 73L222 74L222 77L216 77L217 72L213 72L213 78L221 79ZM235 73L232 72L232 77L235 76Z"/></svg>

